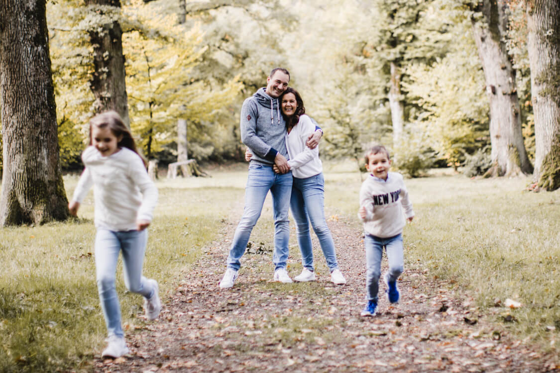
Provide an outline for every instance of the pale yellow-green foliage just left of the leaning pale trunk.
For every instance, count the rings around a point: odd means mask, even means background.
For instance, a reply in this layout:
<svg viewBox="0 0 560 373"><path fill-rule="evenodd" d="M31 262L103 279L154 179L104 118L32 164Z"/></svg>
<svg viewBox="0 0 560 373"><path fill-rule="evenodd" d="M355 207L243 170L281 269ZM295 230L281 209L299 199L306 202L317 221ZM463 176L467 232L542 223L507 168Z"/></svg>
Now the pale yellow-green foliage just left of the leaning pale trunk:
<svg viewBox="0 0 560 373"><path fill-rule="evenodd" d="M488 99L469 22L456 27L456 47L432 65L415 63L407 68L403 83L420 106L416 120L429 134L429 145L455 165L465 149L487 136Z"/></svg>

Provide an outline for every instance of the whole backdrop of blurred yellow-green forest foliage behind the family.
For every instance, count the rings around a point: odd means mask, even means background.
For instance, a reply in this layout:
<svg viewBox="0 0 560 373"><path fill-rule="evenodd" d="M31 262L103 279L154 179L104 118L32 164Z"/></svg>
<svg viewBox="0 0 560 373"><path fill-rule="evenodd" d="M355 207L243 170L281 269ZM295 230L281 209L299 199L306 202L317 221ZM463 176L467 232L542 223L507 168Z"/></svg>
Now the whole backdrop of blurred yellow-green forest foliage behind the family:
<svg viewBox="0 0 560 373"><path fill-rule="evenodd" d="M442 166L466 166L474 176L492 165L477 2L49 1L46 10L63 169L81 168L87 121L99 110L90 32L110 20L123 31L131 129L160 165L176 160L179 119L187 121L189 158L240 160L241 103L278 66L290 70L290 85L325 130L323 157L359 158L381 142L412 176ZM502 37L533 162L524 5L510 3L506 20Z"/></svg>

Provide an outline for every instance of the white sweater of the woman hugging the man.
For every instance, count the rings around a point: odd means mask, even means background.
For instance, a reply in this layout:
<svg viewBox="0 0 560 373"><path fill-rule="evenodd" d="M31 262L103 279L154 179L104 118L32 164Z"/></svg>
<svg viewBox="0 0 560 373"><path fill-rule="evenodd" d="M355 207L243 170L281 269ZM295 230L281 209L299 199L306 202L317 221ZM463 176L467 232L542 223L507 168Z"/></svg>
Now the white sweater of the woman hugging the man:
<svg viewBox="0 0 560 373"><path fill-rule="evenodd" d="M305 145L307 136L315 132L315 124L307 115L301 115L290 133L286 132L286 149L288 150L288 164L292 170L292 176L304 179L323 172L323 164L319 159L319 146L309 149Z"/></svg>

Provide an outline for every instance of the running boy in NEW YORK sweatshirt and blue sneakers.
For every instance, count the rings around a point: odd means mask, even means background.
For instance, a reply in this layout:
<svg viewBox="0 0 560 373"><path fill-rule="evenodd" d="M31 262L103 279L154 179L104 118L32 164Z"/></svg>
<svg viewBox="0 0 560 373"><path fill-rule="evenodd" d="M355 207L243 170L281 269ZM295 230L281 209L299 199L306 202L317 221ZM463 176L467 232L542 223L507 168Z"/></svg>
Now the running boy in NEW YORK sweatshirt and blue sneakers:
<svg viewBox="0 0 560 373"><path fill-rule="evenodd" d="M362 316L374 316L381 276L383 247L387 252L389 271L385 274L387 298L397 303L400 298L396 280L403 273L403 228L414 218L403 176L389 172L391 159L388 150L375 145L366 153L366 167L370 175L360 189L358 218L365 230L367 305ZM403 211L404 210L404 211Z"/></svg>

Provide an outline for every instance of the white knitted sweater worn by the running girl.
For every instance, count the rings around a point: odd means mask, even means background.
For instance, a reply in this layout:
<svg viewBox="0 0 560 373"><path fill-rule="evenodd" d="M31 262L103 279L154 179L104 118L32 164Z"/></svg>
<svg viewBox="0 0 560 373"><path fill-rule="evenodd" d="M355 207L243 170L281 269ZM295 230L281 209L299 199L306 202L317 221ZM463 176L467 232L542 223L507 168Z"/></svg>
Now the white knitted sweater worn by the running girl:
<svg viewBox="0 0 560 373"><path fill-rule="evenodd" d="M97 228L135 230L137 219L152 221L157 188L138 154L122 148L103 157L90 146L83 151L82 162L86 168L72 199L81 203L94 185Z"/></svg>

